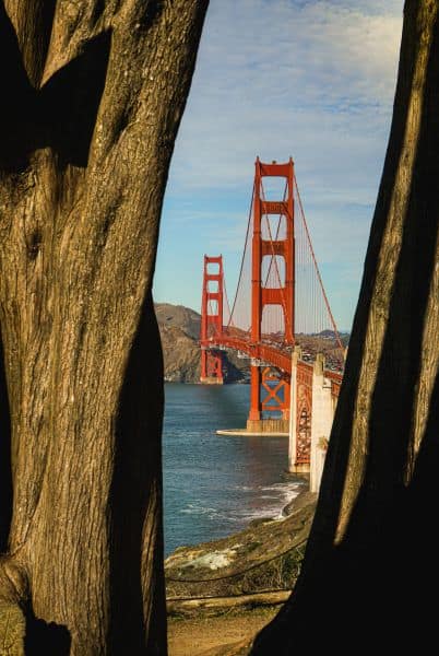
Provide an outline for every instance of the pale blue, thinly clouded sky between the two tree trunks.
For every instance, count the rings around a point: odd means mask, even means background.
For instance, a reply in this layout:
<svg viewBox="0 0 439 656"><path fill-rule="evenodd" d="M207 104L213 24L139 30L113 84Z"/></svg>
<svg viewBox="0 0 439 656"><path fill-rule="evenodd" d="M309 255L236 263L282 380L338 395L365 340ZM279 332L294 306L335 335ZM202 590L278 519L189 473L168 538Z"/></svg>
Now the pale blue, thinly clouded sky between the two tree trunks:
<svg viewBox="0 0 439 656"><path fill-rule="evenodd" d="M162 215L154 298L237 284L254 161L293 156L340 329L355 312L392 116L403 0L211 0Z"/></svg>

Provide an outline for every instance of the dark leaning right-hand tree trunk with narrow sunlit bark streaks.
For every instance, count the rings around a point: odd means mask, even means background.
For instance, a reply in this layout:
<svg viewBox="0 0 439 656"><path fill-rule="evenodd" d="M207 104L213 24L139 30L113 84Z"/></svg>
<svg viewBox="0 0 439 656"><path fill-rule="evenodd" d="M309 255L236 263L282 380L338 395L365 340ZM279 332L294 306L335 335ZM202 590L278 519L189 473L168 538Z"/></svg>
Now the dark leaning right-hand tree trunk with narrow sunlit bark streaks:
<svg viewBox="0 0 439 656"><path fill-rule="evenodd" d="M321 645L395 653L400 642L402 653L437 649L438 180L439 2L407 0L390 141L315 523L296 590L251 654Z"/></svg>

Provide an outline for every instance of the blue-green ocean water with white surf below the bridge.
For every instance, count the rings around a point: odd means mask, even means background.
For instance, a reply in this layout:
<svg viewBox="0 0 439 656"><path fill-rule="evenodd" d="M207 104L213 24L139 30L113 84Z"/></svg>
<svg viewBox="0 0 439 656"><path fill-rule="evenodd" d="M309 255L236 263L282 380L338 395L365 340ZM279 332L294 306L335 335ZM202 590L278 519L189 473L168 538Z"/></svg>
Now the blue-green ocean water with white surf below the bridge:
<svg viewBox="0 0 439 656"><path fill-rule="evenodd" d="M280 517L300 481L285 476L286 437L216 435L246 425L248 385L165 385L165 553Z"/></svg>

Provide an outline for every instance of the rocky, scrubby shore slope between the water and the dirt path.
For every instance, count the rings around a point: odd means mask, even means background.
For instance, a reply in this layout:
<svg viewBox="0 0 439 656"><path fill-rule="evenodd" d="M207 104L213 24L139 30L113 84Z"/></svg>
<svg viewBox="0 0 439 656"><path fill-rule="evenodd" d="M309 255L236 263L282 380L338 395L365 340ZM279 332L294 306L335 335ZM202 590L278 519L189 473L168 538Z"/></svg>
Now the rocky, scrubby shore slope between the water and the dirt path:
<svg viewBox="0 0 439 656"><path fill-rule="evenodd" d="M179 599L290 590L300 570L315 507L316 494L302 491L281 518L257 519L227 538L178 548L165 561L169 612L191 613L191 606L179 605Z"/></svg>

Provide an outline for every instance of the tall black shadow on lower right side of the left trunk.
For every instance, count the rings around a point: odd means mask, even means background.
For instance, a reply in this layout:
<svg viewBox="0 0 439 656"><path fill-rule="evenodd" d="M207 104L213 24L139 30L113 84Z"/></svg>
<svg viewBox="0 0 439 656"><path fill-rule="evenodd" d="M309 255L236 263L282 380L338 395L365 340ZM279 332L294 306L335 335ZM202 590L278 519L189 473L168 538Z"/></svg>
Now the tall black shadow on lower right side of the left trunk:
<svg viewBox="0 0 439 656"><path fill-rule="evenodd" d="M111 483L110 549L110 653L143 654L145 623L150 624L147 654L158 654L166 632L166 617L145 618L142 581L143 558L153 559L156 576L154 594L163 570L161 433L163 417L163 363L158 327L151 294L144 304L138 333L131 349L121 393L116 430L115 471ZM152 512L154 504L157 512ZM155 515L158 547L143 544L145 519ZM145 531L146 532L146 531ZM143 557L142 557L143 553ZM159 588L159 589L157 589ZM150 590L151 594L151 590ZM151 600L150 600L151 604ZM156 608L159 604L153 604ZM163 609L164 610L164 609Z"/></svg>

